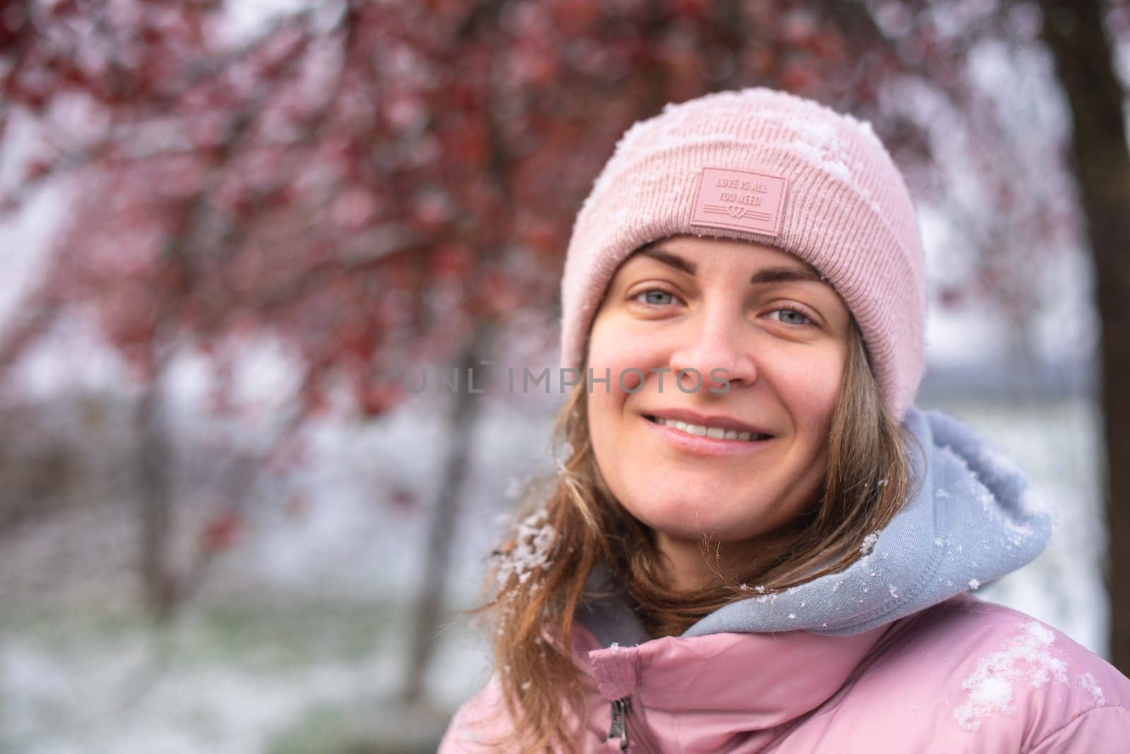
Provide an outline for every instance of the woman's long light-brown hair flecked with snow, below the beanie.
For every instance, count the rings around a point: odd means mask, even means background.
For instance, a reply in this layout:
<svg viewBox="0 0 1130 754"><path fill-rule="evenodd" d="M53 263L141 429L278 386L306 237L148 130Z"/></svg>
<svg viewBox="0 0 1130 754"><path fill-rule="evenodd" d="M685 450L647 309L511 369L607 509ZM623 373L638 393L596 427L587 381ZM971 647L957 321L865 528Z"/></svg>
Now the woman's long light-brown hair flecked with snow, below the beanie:
<svg viewBox="0 0 1130 754"><path fill-rule="evenodd" d="M718 545L704 538L703 554L716 581L694 594L678 591L667 586L647 528L600 474L586 391L582 382L558 413L554 441L565 457L554 477L531 488L516 525L494 552L493 596L470 611L493 619L494 670L514 725L512 736L495 745L572 748L576 731L566 727L563 698L582 725L584 717L581 676L570 651L572 628L577 606L594 596L585 593L585 582L598 564L611 567L653 638L678 635L719 607L750 597L746 582L773 594L847 568L861 556L864 538L885 527L913 494L903 440L915 438L887 413L852 319L827 438L824 493L779 534L781 546L773 551L788 554L728 576L714 564Z"/></svg>

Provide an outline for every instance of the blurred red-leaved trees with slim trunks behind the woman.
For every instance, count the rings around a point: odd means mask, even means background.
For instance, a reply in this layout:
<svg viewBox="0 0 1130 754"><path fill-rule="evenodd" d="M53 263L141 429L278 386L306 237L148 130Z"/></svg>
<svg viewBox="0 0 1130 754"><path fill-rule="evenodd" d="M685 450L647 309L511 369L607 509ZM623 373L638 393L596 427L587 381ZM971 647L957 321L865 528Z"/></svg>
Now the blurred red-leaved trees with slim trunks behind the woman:
<svg viewBox="0 0 1130 754"><path fill-rule="evenodd" d="M167 614L198 580L166 556L171 359L199 351L223 375L247 337L281 339L303 387L279 445L342 379L357 411L379 417L403 398L409 365L477 365L519 313L556 300L594 175L619 134L668 102L768 85L851 111L875 123L916 196L956 211L931 131L950 119L992 202L966 223L986 260L967 287L1025 290L1034 257L1070 223L1061 196L1017 198L1025 157L965 59L983 40L1024 43L1038 27L1016 11L1031 3L979 8L342 0L244 40L216 0L7 3L0 133L31 121L42 138L0 183L3 208L62 174L78 190L49 274L0 342L0 368L64 309L90 312L134 367L144 573ZM1020 297L1012 316L1032 306ZM461 391L450 406L409 700L423 695L442 612L475 403ZM201 549L237 541L237 515L233 501Z"/></svg>

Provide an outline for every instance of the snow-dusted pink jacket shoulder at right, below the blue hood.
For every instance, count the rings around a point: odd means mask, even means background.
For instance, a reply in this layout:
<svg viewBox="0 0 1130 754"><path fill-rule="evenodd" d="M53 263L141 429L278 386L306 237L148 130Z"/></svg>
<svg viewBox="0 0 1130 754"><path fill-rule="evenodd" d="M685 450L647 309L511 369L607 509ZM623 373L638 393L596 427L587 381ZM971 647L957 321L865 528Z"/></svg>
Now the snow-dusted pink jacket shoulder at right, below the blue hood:
<svg viewBox="0 0 1130 754"><path fill-rule="evenodd" d="M1024 613L963 595L888 640L770 751L1128 751L1130 680Z"/></svg>

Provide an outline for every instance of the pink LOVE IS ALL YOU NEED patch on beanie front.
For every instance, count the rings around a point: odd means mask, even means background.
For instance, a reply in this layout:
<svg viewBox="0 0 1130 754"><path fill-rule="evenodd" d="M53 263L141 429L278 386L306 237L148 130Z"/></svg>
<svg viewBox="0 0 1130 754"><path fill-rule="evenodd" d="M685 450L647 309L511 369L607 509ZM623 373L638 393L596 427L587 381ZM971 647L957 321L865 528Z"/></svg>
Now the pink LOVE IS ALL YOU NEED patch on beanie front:
<svg viewBox="0 0 1130 754"><path fill-rule="evenodd" d="M734 228L776 237L788 181L784 176L704 167L690 225Z"/></svg>

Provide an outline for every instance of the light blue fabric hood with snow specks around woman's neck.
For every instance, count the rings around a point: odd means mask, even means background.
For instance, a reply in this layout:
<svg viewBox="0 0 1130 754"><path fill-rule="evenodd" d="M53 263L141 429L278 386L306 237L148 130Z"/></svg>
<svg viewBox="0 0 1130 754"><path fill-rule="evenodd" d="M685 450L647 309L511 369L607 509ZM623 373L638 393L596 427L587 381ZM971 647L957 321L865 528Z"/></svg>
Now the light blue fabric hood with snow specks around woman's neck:
<svg viewBox="0 0 1130 754"><path fill-rule="evenodd" d="M907 454L918 494L849 568L777 595L754 594L692 625L686 637L806 630L851 634L884 625L989 584L1034 560L1051 537L1051 515L1024 473L971 427L911 406L904 419L925 450ZM924 476L923 476L924 473ZM598 569L590 587L611 586ZM751 585L753 586L753 585ZM579 619L603 646L647 634L618 597L582 606Z"/></svg>

